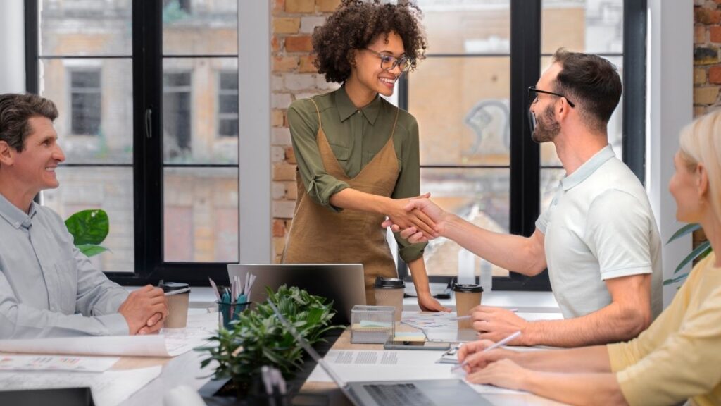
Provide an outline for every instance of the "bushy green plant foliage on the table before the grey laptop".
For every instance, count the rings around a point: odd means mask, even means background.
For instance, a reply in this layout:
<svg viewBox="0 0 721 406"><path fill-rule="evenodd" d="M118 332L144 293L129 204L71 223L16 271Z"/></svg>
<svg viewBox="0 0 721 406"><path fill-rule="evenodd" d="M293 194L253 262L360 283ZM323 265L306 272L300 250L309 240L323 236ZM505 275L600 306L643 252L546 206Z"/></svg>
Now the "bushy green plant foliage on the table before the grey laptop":
<svg viewBox="0 0 721 406"><path fill-rule="evenodd" d="M278 306L283 316L311 345L324 341L323 336L329 330L342 328L329 325L335 312L332 303L326 303L325 298L286 285L280 286L275 293L270 289L267 291L267 300ZM209 355L201 361L201 368L216 361L213 379L229 379L234 389L229 389L226 384L222 389L224 392L234 390L239 397L247 395L262 366L274 366L286 379L301 368L304 350L267 303L243 311L231 326L230 329L218 329L218 334L210 339L211 345L197 349Z"/></svg>

